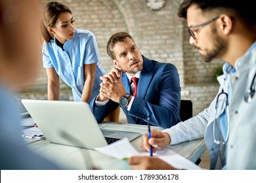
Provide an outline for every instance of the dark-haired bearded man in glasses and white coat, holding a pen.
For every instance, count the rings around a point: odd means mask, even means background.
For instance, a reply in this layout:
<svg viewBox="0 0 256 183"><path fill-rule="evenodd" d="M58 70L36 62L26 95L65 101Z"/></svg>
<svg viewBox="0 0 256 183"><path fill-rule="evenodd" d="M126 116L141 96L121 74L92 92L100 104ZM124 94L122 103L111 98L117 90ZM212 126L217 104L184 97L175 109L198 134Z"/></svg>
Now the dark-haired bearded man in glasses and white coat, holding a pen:
<svg viewBox="0 0 256 183"><path fill-rule="evenodd" d="M149 151L150 145L164 148L205 137L210 169L256 169L255 7L249 0L184 0L179 16L187 19L189 42L204 61L226 62L221 87L203 112L163 132L152 130L150 139L145 134L142 147ZM175 169L158 158L128 162L133 169Z"/></svg>

